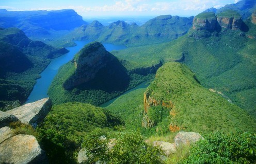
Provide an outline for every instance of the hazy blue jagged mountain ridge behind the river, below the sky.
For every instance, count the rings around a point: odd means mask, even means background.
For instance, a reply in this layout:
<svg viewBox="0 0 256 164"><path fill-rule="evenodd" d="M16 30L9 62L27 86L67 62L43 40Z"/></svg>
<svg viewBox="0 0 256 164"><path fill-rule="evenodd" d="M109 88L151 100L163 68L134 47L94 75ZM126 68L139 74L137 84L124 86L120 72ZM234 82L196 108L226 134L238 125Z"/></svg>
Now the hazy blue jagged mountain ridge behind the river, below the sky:
<svg viewBox="0 0 256 164"><path fill-rule="evenodd" d="M93 40L116 45L141 46L168 42L184 35L193 21L191 17L157 16L142 26L117 21L103 26L98 21L74 29L63 36L66 40Z"/></svg>

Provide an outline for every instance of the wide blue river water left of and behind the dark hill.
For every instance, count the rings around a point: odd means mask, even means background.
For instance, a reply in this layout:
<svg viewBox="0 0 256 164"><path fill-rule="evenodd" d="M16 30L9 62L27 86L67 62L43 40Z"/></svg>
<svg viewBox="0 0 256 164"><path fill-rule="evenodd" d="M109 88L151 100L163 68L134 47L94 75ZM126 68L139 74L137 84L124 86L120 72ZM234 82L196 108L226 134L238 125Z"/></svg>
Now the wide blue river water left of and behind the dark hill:
<svg viewBox="0 0 256 164"><path fill-rule="evenodd" d="M34 86L32 92L30 93L26 103L34 102L42 98L48 97L47 90L53 81L53 78L58 72L58 69L63 64L68 63L73 59L74 55L84 47L84 45L90 43L91 41L76 41L76 46L67 47L69 50L68 53L63 54L62 56L55 58L51 63L41 72L40 79L37 79L37 83ZM103 44L107 51L120 50L126 48L123 45L113 45L113 44Z"/></svg>

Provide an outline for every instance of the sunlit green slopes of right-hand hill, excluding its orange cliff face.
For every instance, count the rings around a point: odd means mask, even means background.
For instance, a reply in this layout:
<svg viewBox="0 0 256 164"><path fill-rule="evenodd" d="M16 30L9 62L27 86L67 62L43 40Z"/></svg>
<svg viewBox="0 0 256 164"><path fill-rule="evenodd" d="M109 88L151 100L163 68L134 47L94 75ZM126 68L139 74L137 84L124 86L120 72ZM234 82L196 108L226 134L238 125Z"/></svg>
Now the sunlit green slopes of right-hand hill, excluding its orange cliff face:
<svg viewBox="0 0 256 164"><path fill-rule="evenodd" d="M181 127L181 130L201 134L213 131L230 132L235 127L244 131L255 131L255 119L226 98L202 87L194 79L194 73L180 63L167 63L159 68L148 90L153 90L151 96L156 100L171 100L174 103L171 110L174 116L165 116L152 129L142 128L145 89L137 89L107 106L109 111L124 120L126 130L140 130L146 136L172 136L168 130L172 123ZM165 110L169 115L170 108Z"/></svg>

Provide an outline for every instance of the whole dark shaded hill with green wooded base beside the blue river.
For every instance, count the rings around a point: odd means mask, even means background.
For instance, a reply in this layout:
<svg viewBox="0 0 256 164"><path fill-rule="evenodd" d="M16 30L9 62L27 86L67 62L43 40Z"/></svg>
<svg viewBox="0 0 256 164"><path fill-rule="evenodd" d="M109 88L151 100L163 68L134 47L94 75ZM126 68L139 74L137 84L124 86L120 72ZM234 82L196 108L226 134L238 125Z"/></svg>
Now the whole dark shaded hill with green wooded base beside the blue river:
<svg viewBox="0 0 256 164"><path fill-rule="evenodd" d="M92 42L59 69L49 96L57 104L78 101L100 105L152 78L150 70L129 72L102 44Z"/></svg>

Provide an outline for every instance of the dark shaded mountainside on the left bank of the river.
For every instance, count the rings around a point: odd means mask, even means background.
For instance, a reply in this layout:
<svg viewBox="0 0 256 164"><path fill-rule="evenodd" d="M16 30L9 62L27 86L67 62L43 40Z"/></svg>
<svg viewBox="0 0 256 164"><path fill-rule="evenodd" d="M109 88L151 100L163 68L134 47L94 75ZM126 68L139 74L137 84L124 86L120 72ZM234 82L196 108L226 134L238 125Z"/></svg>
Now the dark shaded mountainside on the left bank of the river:
<svg viewBox="0 0 256 164"><path fill-rule="evenodd" d="M50 59L64 53L65 48L31 41L18 28L0 29L0 110L8 110L12 101L24 103Z"/></svg>

